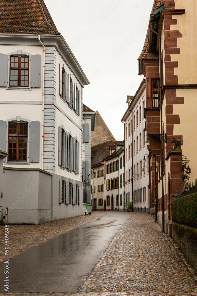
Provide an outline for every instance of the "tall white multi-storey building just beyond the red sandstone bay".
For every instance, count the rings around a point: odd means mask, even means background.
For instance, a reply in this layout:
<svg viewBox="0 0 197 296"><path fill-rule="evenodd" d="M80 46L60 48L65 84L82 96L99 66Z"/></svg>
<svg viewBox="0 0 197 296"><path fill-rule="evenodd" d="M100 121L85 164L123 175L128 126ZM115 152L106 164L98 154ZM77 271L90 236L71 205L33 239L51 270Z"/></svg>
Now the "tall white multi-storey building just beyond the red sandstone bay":
<svg viewBox="0 0 197 296"><path fill-rule="evenodd" d="M146 140L146 83L143 80L135 96L128 96L125 123L125 194L133 202L134 212L149 210L149 151ZM146 160L145 160L146 159Z"/></svg>

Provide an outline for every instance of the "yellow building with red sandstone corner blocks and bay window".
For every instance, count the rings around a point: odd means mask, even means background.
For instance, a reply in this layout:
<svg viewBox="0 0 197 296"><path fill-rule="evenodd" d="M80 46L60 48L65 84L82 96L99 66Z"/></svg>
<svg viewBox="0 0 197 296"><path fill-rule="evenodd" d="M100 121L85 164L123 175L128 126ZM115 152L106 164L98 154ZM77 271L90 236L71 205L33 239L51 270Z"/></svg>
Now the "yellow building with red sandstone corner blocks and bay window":
<svg viewBox="0 0 197 296"><path fill-rule="evenodd" d="M190 160L190 180L196 178L196 9L194 0L154 1L139 57L139 75L146 77L147 144L157 172L152 202L157 200L157 221L169 236L173 200L183 186L183 156Z"/></svg>

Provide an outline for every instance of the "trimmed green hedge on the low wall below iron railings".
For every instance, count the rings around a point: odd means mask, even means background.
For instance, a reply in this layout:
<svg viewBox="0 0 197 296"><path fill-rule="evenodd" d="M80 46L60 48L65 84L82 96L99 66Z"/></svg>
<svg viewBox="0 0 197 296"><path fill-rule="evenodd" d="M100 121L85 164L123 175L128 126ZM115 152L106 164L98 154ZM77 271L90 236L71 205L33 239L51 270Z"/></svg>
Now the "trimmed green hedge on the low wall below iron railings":
<svg viewBox="0 0 197 296"><path fill-rule="evenodd" d="M180 224L197 227L197 193L174 200L172 220Z"/></svg>

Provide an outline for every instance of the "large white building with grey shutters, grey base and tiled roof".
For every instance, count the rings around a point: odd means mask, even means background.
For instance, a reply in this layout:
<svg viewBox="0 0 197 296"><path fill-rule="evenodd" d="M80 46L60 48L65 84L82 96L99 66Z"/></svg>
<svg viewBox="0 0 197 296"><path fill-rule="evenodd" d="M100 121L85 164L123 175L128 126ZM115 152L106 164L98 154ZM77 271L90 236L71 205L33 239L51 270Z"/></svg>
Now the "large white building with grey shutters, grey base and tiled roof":
<svg viewBox="0 0 197 296"><path fill-rule="evenodd" d="M43 0L0 2L0 150L8 152L2 210L9 208L10 223L82 215L82 91L89 81Z"/></svg>

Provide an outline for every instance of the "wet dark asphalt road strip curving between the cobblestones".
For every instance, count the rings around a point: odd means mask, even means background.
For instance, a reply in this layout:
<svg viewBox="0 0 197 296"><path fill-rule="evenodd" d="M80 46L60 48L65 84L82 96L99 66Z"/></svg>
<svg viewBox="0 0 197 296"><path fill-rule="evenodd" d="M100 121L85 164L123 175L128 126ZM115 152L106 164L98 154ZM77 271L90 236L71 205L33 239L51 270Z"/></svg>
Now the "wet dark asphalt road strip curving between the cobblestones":
<svg viewBox="0 0 197 296"><path fill-rule="evenodd" d="M9 292L75 292L131 213L108 215L9 260ZM0 292L4 292L4 276Z"/></svg>

